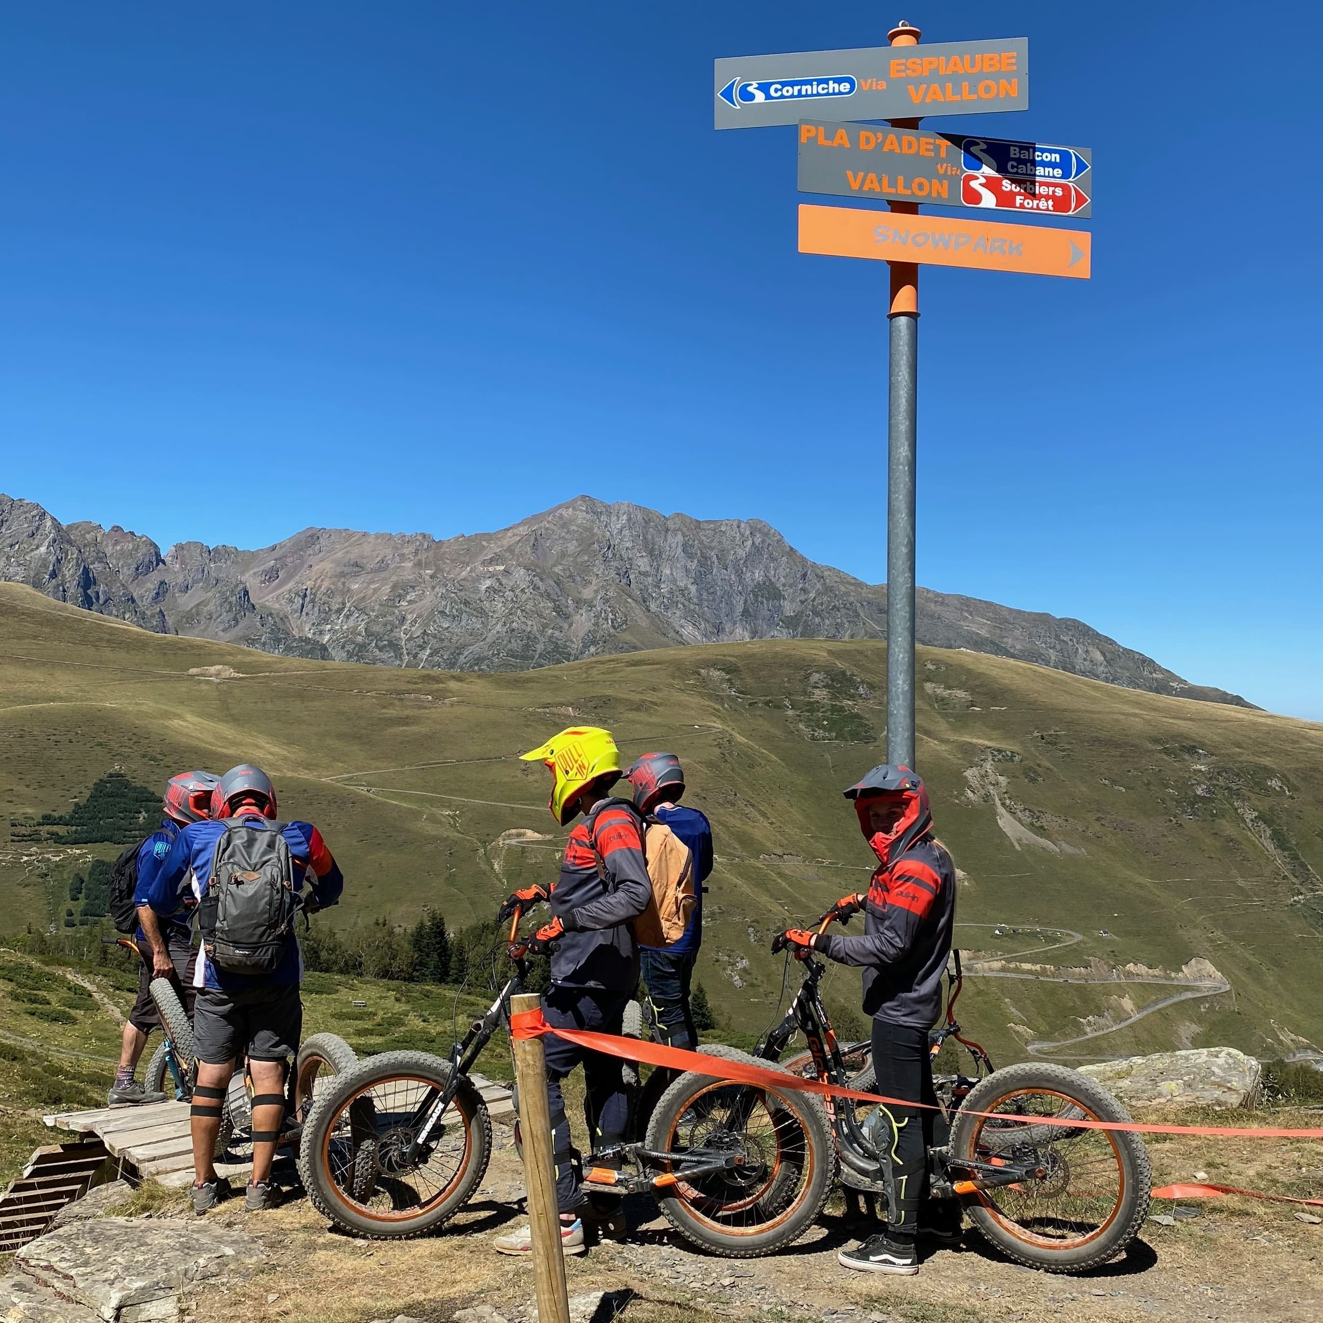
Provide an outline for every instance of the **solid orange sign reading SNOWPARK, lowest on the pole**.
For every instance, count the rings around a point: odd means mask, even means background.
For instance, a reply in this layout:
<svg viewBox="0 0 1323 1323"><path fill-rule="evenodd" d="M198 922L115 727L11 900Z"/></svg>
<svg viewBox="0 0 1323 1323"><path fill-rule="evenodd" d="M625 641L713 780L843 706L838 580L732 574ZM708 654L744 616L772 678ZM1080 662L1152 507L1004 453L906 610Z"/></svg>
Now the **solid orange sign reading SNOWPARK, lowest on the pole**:
<svg viewBox="0 0 1323 1323"><path fill-rule="evenodd" d="M799 251L1089 279L1088 230L799 204Z"/></svg>

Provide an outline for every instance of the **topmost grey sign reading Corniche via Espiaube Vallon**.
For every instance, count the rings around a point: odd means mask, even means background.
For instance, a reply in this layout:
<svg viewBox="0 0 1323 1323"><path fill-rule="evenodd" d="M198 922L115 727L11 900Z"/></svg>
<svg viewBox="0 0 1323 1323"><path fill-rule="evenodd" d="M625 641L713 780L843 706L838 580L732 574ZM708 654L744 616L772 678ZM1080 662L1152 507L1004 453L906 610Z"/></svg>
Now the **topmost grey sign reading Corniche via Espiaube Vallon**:
<svg viewBox="0 0 1323 1323"><path fill-rule="evenodd" d="M716 62L712 93L717 128L794 124L806 105L851 119L1028 110L1029 41L738 56Z"/></svg>

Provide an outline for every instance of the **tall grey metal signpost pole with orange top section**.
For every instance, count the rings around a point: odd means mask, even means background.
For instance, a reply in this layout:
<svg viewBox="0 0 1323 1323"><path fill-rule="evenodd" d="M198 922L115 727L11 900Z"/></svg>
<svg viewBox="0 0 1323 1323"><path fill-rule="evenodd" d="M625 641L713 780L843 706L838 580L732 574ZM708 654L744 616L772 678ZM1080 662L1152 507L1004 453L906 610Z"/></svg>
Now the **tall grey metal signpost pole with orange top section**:
<svg viewBox="0 0 1323 1323"><path fill-rule="evenodd" d="M902 22L888 37L914 46L922 33ZM918 120L893 120L917 128ZM914 202L893 212L918 214ZM886 761L914 766L914 490L918 451L918 266L892 262L889 406L886 414Z"/></svg>

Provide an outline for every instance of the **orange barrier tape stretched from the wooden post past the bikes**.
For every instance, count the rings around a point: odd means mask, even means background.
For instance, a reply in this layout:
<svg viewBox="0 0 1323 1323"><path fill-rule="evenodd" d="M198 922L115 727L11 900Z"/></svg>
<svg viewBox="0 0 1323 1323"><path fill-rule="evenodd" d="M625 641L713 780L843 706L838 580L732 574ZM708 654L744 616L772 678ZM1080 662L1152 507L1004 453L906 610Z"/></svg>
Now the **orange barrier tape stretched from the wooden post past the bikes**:
<svg viewBox="0 0 1323 1323"><path fill-rule="evenodd" d="M646 1061L654 1066L668 1066L672 1070L692 1070L713 1080L732 1080L736 1084L751 1084L761 1089L798 1089L803 1093L816 1093L824 1098L849 1098L855 1102L882 1103L892 1107L923 1107L941 1111L929 1102L906 1102L904 1098L888 1098L880 1093L863 1093L859 1089L841 1089L839 1085L822 1084L818 1080L803 1080L799 1076L782 1074L765 1066L746 1065L744 1061L725 1061L721 1057L705 1057L683 1048L667 1048L659 1043L644 1043L642 1039L620 1039L614 1033L594 1033L590 1029L554 1029L538 1011L520 1011L511 1016L511 1033L516 1039L536 1039L542 1033L554 1033L569 1043L593 1052L603 1052L622 1061ZM1135 1121L1074 1121L1065 1117L1015 1117L1005 1113L970 1111L971 1117L987 1117L992 1121L1015 1121L1027 1126L1065 1126L1069 1130L1129 1130L1150 1135L1226 1135L1258 1139L1323 1139L1323 1130L1275 1130L1248 1126L1154 1126Z"/></svg>

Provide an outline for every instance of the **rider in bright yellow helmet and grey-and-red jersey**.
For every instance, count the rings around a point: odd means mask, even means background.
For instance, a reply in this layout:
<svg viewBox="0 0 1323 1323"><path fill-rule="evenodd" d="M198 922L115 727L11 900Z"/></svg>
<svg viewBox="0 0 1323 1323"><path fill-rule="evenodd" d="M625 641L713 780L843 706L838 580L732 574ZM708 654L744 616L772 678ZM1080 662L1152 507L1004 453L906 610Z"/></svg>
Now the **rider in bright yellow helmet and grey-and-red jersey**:
<svg viewBox="0 0 1323 1323"><path fill-rule="evenodd" d="M542 947L556 943L552 987L542 998L546 1023L553 1029L619 1033L624 1007L639 983L639 949L630 923L652 900L638 814L627 800L609 798L620 779L620 751L610 730L572 726L521 757L525 762L544 762L552 770L554 782L548 807L556 820L565 826L582 814L583 822L565 843L561 875L550 892L542 886L515 892L501 916L509 918L516 906L528 909L550 900L552 922L534 937ZM574 1179L561 1081L582 1064L594 1148L624 1139L630 1098L618 1057L590 1052L554 1035L544 1040L544 1048L561 1245L566 1254L582 1254L583 1199ZM525 1226L497 1236L493 1248L501 1254L531 1254L532 1234Z"/></svg>

